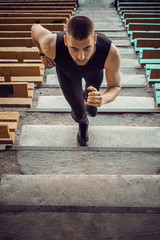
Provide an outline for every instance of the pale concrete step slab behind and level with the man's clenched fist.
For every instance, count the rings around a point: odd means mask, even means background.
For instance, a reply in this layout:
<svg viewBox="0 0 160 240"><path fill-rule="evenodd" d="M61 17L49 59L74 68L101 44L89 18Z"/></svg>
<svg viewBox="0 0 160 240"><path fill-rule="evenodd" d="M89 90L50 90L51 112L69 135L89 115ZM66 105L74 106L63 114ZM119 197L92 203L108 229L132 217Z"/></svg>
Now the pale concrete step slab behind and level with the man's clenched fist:
<svg viewBox="0 0 160 240"><path fill-rule="evenodd" d="M68 109L70 106L64 96L39 96L37 108ZM100 111L105 109L155 109L154 98L118 96L113 102L102 105Z"/></svg>

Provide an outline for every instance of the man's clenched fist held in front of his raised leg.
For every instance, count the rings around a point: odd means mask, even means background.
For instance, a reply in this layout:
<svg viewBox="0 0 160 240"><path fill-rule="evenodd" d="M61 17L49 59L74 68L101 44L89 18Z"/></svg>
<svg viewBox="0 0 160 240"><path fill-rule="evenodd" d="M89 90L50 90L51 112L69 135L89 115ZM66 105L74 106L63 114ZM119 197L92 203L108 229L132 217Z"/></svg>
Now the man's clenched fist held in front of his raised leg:
<svg viewBox="0 0 160 240"><path fill-rule="evenodd" d="M101 107L103 104L102 93L93 86L88 87L87 90L91 91L88 93L87 105Z"/></svg>

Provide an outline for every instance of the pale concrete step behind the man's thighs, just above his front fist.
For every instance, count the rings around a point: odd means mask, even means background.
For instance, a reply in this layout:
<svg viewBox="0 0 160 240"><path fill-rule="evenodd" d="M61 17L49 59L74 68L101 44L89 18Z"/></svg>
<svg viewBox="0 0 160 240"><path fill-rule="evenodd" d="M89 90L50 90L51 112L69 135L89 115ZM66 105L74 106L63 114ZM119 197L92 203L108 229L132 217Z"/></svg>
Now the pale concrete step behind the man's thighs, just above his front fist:
<svg viewBox="0 0 160 240"><path fill-rule="evenodd" d="M56 73L53 75L51 74L47 75L46 84L53 85L53 87L60 87ZM83 79L83 86L85 86L84 79ZM122 87L131 87L131 86L146 87L146 78L144 75L122 74L121 86ZM104 88L104 87L107 87L105 74L104 74L103 82L101 84L101 88Z"/></svg>

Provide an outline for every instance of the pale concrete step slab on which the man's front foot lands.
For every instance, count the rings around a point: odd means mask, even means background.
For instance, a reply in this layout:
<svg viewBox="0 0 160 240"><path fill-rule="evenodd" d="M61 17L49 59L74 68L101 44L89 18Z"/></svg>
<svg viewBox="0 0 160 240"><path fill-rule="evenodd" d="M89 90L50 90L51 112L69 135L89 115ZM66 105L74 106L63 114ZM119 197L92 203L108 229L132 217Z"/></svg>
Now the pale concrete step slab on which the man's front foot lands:
<svg viewBox="0 0 160 240"><path fill-rule="evenodd" d="M90 126L90 147L160 148L159 127ZM76 147L77 126L24 125L20 146Z"/></svg>

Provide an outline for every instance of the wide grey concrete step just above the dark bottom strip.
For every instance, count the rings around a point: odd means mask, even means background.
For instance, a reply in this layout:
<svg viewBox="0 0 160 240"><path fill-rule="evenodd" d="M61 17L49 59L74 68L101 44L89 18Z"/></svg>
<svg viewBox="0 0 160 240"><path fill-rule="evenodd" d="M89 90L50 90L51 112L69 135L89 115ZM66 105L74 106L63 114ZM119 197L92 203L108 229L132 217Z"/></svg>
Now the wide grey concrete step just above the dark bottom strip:
<svg viewBox="0 0 160 240"><path fill-rule="evenodd" d="M159 175L3 175L2 211L160 212Z"/></svg>

